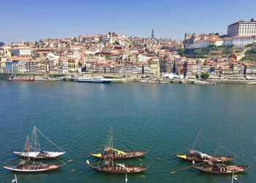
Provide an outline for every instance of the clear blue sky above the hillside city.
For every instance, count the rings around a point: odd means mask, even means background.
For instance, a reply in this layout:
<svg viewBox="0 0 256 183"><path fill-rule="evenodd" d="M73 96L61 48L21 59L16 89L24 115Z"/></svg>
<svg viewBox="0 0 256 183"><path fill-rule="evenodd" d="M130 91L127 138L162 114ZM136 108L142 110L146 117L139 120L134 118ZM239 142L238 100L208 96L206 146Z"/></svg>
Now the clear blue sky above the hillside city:
<svg viewBox="0 0 256 183"><path fill-rule="evenodd" d="M183 39L185 32L225 34L256 19L255 0L0 0L0 42L35 41L116 31Z"/></svg>

